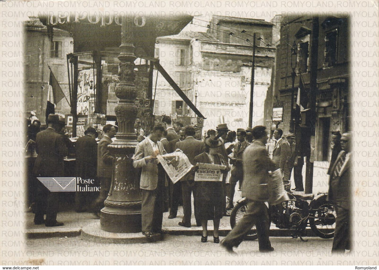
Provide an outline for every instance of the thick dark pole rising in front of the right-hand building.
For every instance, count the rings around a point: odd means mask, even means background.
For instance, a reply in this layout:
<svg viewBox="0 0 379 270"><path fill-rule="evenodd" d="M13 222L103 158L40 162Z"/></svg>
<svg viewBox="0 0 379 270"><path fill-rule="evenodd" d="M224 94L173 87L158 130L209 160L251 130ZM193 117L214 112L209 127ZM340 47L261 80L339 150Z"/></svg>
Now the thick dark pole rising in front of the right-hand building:
<svg viewBox="0 0 379 270"><path fill-rule="evenodd" d="M305 194L312 193L313 187L313 161L315 158L315 134L316 134L316 94L317 94L317 65L318 65L318 17L312 18L312 43L310 51L310 76L309 76L309 119L307 126L310 128L310 154L307 155L307 167L305 171Z"/></svg>

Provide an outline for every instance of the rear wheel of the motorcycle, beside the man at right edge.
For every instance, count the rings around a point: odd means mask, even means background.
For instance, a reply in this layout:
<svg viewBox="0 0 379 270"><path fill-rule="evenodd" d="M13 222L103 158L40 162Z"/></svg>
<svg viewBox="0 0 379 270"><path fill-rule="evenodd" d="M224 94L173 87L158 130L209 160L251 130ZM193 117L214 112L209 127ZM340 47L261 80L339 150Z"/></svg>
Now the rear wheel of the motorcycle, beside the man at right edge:
<svg viewBox="0 0 379 270"><path fill-rule="evenodd" d="M325 198L319 198L312 206L312 209L315 209L315 217L309 218L309 226L316 236L329 239L334 237L337 213L334 206L327 202Z"/></svg>

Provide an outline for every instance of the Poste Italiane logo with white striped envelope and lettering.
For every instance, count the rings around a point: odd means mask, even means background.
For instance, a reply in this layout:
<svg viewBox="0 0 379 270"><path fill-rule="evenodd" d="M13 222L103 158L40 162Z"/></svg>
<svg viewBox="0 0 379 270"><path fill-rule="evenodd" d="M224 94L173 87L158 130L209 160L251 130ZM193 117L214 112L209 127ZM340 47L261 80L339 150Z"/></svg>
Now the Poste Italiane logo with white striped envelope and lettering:
<svg viewBox="0 0 379 270"><path fill-rule="evenodd" d="M67 191L100 191L94 179L81 177L37 177L37 179L52 192Z"/></svg>

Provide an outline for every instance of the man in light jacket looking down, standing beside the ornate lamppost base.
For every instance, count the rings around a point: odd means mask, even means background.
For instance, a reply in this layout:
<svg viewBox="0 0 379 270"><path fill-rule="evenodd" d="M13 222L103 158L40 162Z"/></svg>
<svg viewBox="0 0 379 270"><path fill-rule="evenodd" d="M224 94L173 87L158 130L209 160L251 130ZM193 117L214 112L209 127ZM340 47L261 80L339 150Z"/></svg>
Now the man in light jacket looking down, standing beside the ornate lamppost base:
<svg viewBox="0 0 379 270"><path fill-rule="evenodd" d="M152 238L162 230L164 190L167 187L166 172L157 155L167 154L160 139L163 126L155 126L149 137L137 144L134 153L134 168L142 168L139 188L142 191L142 233Z"/></svg>

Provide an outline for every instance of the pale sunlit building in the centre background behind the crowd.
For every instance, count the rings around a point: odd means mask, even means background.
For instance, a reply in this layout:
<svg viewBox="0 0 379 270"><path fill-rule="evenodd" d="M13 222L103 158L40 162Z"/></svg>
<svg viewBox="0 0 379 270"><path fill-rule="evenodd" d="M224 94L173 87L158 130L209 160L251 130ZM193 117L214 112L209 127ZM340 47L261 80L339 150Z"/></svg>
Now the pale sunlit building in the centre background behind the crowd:
<svg viewBox="0 0 379 270"><path fill-rule="evenodd" d="M246 128L249 120L253 34L256 33L253 126L263 123L275 46L273 24L264 20L214 16L207 32L160 37L156 57L206 118L204 130L220 123ZM247 40L247 41L246 41ZM156 74L154 76L157 76ZM155 79L155 77L154 77ZM154 96L155 84L153 84ZM195 116L158 74L155 115Z"/></svg>

